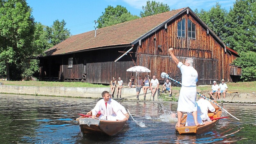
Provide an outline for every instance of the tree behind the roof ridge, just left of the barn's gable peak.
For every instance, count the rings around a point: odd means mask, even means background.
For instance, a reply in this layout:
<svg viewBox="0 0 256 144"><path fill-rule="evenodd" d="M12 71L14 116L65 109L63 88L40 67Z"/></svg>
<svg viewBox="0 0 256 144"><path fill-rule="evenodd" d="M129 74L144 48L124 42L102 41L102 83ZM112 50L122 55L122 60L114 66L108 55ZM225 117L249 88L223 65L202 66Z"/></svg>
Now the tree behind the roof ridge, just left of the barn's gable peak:
<svg viewBox="0 0 256 144"><path fill-rule="evenodd" d="M163 4L160 2L156 1L147 1L147 5L144 7L142 6L143 12L140 12L140 17L147 17L150 15L158 14L158 13L163 13L170 11L170 7L167 4Z"/></svg>

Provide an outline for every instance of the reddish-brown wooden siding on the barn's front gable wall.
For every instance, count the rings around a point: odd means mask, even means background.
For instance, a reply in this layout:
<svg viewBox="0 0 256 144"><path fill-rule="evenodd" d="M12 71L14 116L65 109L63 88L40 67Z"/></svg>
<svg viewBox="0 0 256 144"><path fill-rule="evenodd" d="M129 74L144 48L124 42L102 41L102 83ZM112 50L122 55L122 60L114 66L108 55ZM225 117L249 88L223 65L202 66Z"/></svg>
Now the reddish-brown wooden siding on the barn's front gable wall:
<svg viewBox="0 0 256 144"><path fill-rule="evenodd" d="M196 25L196 39L186 37L177 37L177 24L182 19L188 19ZM155 37L155 39L154 39ZM158 45L161 48L158 49ZM142 40L137 52L140 54L138 61L141 66L151 70L151 75L157 75L160 78L161 72L172 73L173 76L180 74L174 62L170 62L168 49L174 47L175 56L181 61L188 57L194 59L194 68L198 72L198 84L212 84L214 80L232 79L230 77L229 65L236 59L234 54L227 51L216 41L216 39L207 34L207 29L203 28L192 15L184 13L177 19L167 24L167 29L160 28L155 33Z"/></svg>

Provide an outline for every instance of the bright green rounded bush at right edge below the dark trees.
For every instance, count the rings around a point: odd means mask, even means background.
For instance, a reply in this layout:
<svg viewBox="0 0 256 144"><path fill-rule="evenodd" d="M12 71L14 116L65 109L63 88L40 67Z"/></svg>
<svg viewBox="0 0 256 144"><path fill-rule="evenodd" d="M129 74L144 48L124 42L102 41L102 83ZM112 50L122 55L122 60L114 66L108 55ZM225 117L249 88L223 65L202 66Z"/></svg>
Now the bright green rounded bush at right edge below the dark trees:
<svg viewBox="0 0 256 144"><path fill-rule="evenodd" d="M243 81L256 81L256 52L241 52L233 64L242 67Z"/></svg>

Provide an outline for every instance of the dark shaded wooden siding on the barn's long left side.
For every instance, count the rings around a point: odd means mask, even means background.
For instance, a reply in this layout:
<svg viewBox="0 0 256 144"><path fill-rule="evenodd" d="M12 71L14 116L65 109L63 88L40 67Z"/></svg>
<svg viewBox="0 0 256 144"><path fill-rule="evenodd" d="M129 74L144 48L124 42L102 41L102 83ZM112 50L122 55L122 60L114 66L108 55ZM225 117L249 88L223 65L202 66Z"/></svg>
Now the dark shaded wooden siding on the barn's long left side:
<svg viewBox="0 0 256 144"><path fill-rule="evenodd" d="M126 72L126 69L134 66L132 59L135 59L135 53L131 54L132 57L127 54L117 62L114 60L122 55L121 52L130 48L131 46L45 57L40 60L40 77L42 80L53 80L53 77L56 80L57 77L60 81L80 81L86 72L87 83L110 84L112 77L117 80L121 77L124 84L128 84L134 73ZM133 51L136 51L136 48ZM68 68L68 58L73 58L72 68ZM53 65L55 66L52 67Z"/></svg>

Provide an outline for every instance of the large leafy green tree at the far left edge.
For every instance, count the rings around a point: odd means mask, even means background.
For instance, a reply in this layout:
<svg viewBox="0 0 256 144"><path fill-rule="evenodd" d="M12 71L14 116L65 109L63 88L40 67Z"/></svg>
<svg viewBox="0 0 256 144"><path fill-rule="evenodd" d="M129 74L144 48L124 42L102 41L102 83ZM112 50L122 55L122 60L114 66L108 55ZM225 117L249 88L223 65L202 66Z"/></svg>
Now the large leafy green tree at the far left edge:
<svg viewBox="0 0 256 144"><path fill-rule="evenodd" d="M19 71L21 61L36 51L32 46L35 23L31 11L26 0L0 1L0 61L7 80Z"/></svg>

